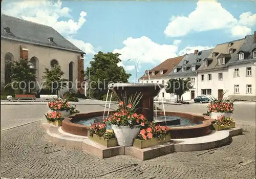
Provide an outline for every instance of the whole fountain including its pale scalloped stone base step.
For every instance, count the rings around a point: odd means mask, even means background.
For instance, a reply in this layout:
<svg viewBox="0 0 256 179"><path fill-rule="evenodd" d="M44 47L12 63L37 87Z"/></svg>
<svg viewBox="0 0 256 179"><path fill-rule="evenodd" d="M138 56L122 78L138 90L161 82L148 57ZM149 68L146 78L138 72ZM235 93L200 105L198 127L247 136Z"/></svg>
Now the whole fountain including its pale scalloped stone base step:
<svg viewBox="0 0 256 179"><path fill-rule="evenodd" d="M231 139L230 136L242 134L242 128L211 132L210 127L215 120L210 119L208 116L177 111L156 110L154 117L154 97L158 95L163 85L152 83L114 83L109 87L112 91L111 96L114 93L119 98L123 98L124 93L126 94L126 98L136 93L142 93L143 97L138 104L140 108L136 112L145 116L148 121L154 121L154 123L169 126L170 129L168 133L170 135L168 135L168 140L167 137L164 143L159 143L159 141L154 143L156 139L145 140L144 144L148 145L148 141L153 144L144 148L138 148L141 143L140 140L135 138L133 138L133 146L119 145L118 139L115 138L105 140L102 137L94 138L93 136L94 140L91 140L92 136L90 135L88 137L91 123L95 121L102 122L102 119L115 113L114 110L110 110L111 104L109 104L108 114L105 114L107 102L105 103L104 111L74 114L66 117L65 120L62 121L62 127L49 126L49 124L45 125L47 130L46 138L62 146L72 146L86 150L100 158L110 158L115 155L131 155L140 160L148 160L172 152L217 148L228 144ZM174 121L176 121L176 123L178 121L179 123L174 124ZM125 134L124 136L130 135ZM110 140L109 143L108 140ZM137 141L137 143L135 141ZM142 146L142 144L140 146Z"/></svg>

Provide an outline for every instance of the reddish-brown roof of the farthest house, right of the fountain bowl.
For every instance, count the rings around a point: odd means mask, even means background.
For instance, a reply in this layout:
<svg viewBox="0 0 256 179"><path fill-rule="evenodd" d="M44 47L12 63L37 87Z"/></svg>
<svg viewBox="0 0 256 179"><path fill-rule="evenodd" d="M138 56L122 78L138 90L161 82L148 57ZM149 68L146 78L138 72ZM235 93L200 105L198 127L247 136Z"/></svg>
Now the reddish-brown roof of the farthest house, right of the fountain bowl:
<svg viewBox="0 0 256 179"><path fill-rule="evenodd" d="M161 64L157 65L155 68L153 68L152 70L150 70L150 72L154 72L154 71L160 71L161 69L166 69L167 71L164 74L160 74L160 72L158 72L155 75L152 75L152 73L150 74L150 79L155 79L155 78L161 78L164 76L168 76L168 74L170 73L170 71L173 70L174 66L176 66L177 64L179 64L179 62L184 58L183 56L179 56L179 57L175 57L175 58L168 58L167 60L165 60L164 62L162 62ZM140 77L139 79L143 79L146 80L148 79L147 75L143 75L142 77Z"/></svg>

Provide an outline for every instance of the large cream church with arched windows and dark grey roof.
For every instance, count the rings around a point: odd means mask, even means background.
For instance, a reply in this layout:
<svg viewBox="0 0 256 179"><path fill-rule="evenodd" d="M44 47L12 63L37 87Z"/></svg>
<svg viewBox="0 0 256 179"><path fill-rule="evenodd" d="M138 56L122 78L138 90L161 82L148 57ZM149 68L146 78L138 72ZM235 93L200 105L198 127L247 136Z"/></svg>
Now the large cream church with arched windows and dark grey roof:
<svg viewBox="0 0 256 179"><path fill-rule="evenodd" d="M60 65L63 78L77 83L70 86L74 91L84 93L81 84L84 80L83 57L85 53L62 37L52 27L32 23L2 14L1 29L1 86L10 82L8 62L26 59L31 68L36 69L36 77L41 84L45 68ZM38 88L39 86L37 86ZM67 91L67 89L64 89Z"/></svg>

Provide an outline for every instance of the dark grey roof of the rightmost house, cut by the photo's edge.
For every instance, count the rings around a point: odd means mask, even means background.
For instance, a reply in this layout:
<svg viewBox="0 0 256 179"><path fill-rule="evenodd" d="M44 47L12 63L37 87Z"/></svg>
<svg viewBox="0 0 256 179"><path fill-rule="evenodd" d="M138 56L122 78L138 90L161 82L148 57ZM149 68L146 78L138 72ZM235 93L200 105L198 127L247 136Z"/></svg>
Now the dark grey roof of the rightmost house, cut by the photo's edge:
<svg viewBox="0 0 256 179"><path fill-rule="evenodd" d="M233 58L233 60L229 63L229 65L235 65L235 64L241 64L241 63L249 63L249 62L255 62L256 58L253 58L253 51L256 50L256 42L254 35L248 35L245 38L244 43L239 49L239 52L245 52L247 54L244 54L244 59L239 60L238 54Z"/></svg>

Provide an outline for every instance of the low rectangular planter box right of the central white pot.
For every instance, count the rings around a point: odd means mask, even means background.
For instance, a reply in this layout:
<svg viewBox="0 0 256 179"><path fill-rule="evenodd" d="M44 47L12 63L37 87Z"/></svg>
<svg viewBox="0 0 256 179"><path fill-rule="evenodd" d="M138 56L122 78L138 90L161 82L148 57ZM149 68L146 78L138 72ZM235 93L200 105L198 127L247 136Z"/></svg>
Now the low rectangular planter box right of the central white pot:
<svg viewBox="0 0 256 179"><path fill-rule="evenodd" d="M170 141L170 135L166 135L166 137L161 140L157 138L147 139L147 140L134 139L133 146L141 149L141 148L151 147L154 145L163 144L169 141Z"/></svg>

